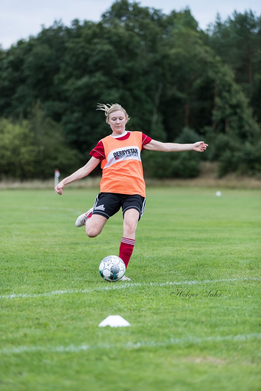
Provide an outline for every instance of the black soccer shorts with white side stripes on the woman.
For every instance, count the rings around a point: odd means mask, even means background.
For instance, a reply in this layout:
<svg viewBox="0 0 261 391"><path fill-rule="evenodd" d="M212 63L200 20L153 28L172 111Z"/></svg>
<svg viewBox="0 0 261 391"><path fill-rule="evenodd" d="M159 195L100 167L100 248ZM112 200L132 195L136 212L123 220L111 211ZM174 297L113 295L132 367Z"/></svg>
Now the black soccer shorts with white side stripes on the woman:
<svg viewBox="0 0 261 391"><path fill-rule="evenodd" d="M109 219L122 208L123 217L128 209L137 209L141 217L145 209L145 201L146 198L139 194L99 193L92 214Z"/></svg>

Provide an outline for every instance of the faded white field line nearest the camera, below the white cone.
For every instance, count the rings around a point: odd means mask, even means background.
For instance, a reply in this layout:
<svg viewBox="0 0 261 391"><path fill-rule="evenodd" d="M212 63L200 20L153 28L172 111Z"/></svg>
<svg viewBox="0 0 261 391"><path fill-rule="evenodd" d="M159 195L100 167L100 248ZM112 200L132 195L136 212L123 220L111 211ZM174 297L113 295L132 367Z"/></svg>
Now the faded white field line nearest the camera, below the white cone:
<svg viewBox="0 0 261 391"><path fill-rule="evenodd" d="M142 342L127 342L125 345L121 345L120 348L124 350L133 350L139 348L151 348L157 346L171 346L171 345L182 345L182 344L202 344L202 343L211 343L211 342L223 342L223 341L232 341L232 342L242 342L247 341L248 339L260 339L261 334L239 334L239 335L213 335L211 337L184 337L184 338L170 338L166 341L142 341ZM79 353L86 350L96 350L96 349L115 349L115 344L100 344L100 345L68 345L68 346L17 346L16 348L1 349L0 355L3 354L20 354L20 353L37 353L37 352L46 352L46 353Z"/></svg>

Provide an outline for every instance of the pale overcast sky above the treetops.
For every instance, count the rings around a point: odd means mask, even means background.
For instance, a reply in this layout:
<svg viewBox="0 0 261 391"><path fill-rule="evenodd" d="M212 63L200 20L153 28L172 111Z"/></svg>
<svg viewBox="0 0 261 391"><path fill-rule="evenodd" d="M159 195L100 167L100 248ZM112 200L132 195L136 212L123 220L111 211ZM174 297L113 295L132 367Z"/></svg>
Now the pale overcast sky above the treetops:
<svg viewBox="0 0 261 391"><path fill-rule="evenodd" d="M0 45L6 49L18 39L36 35L41 25L49 27L54 20L62 20L67 26L76 18L97 22L112 4L113 0L0 0ZM140 5L162 9L166 14L189 6L201 29L214 22L217 13L222 20L234 10L251 9L261 14L260 0L142 0Z"/></svg>

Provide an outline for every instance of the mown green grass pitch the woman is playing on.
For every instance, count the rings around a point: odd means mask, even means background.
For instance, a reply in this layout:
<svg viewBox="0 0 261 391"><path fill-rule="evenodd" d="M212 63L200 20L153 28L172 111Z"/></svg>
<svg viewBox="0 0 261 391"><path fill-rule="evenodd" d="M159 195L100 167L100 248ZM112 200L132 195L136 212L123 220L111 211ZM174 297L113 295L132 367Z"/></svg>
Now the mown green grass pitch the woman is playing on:
<svg viewBox="0 0 261 391"><path fill-rule="evenodd" d="M217 190L148 188L115 283L121 212L74 226L97 190L0 191L1 391L260 390L261 191Z"/></svg>

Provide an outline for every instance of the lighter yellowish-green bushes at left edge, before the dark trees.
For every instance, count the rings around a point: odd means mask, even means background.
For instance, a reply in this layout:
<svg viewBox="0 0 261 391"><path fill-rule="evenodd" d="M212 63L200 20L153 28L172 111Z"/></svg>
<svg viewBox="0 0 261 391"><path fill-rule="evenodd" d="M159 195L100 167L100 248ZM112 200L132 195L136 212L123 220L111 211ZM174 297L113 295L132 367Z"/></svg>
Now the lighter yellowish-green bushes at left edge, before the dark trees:
<svg viewBox="0 0 261 391"><path fill-rule="evenodd" d="M58 168L69 174L79 168L79 153L70 148L59 124L41 111L18 123L0 118L0 178L46 179Z"/></svg>

